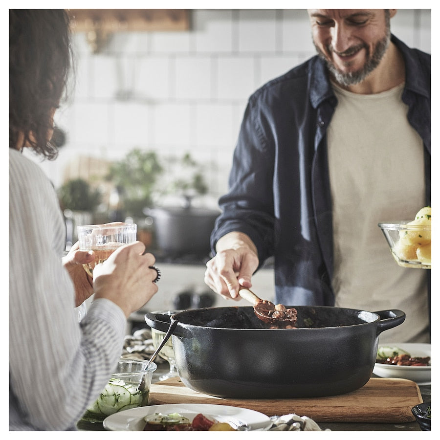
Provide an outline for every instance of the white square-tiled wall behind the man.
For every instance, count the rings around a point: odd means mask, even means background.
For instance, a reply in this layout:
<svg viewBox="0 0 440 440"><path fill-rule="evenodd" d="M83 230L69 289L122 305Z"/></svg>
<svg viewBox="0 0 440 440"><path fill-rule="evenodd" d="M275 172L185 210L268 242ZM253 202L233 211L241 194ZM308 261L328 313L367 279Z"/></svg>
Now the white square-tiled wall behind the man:
<svg viewBox="0 0 440 440"><path fill-rule="evenodd" d="M213 198L227 175L248 96L314 55L305 9L195 9L185 32L116 33L92 54L75 35L74 94L56 114L67 143L44 162L55 186L78 154L123 157L134 147L191 152ZM431 10L402 9L392 32L431 52Z"/></svg>

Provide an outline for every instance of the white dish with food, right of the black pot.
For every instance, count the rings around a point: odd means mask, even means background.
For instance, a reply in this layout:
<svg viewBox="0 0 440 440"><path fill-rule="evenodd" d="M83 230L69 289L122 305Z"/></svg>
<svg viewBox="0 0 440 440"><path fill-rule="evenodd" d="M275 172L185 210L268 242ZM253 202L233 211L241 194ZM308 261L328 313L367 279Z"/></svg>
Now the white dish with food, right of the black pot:
<svg viewBox="0 0 440 440"><path fill-rule="evenodd" d="M380 346L398 347L411 356L431 356L431 344L415 344L415 343L395 343L386 342L379 343ZM376 362L374 364L373 373L380 377L399 377L409 379L418 385L431 384L431 366L427 367L411 367L409 365L387 365Z"/></svg>

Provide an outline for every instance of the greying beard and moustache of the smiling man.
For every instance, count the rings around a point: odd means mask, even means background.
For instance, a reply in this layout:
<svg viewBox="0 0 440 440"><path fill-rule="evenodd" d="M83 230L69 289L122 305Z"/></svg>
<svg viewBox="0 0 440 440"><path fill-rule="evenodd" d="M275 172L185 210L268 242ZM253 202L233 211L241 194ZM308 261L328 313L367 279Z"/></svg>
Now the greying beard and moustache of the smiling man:
<svg viewBox="0 0 440 440"><path fill-rule="evenodd" d="M355 72L349 72L349 73L341 72L341 70L339 70L328 59L328 56L326 56L326 54L324 54L313 41L313 44L315 45L318 55L327 63L327 67L330 70L330 74L338 84L342 86L353 86L355 84L359 84L379 65L380 60L382 60L382 57L385 54L390 44L391 33L390 33L389 21L387 24L388 25L387 25L386 35L382 40L376 43L373 54L370 54L369 47L367 45L351 47L346 51L346 52L352 52L353 49L360 49L360 48L365 48L365 50L367 51L367 61L365 62L364 66L362 66L359 70ZM326 47L326 49L330 56L332 53L330 44Z"/></svg>

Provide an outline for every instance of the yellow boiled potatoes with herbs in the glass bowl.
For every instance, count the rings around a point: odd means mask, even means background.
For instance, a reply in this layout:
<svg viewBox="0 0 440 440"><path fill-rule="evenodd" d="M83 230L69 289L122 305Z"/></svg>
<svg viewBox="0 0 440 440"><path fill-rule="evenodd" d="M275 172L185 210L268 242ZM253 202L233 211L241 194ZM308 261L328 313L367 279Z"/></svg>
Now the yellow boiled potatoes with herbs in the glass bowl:
<svg viewBox="0 0 440 440"><path fill-rule="evenodd" d="M402 260L431 264L431 207L421 208L407 225L408 229L399 231L399 241L394 249L396 255Z"/></svg>

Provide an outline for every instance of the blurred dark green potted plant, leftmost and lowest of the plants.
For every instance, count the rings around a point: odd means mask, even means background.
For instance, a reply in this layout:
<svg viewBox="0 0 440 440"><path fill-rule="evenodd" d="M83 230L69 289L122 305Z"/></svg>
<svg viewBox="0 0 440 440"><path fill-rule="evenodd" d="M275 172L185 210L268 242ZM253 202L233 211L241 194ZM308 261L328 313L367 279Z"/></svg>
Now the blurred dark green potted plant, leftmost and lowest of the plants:
<svg viewBox="0 0 440 440"><path fill-rule="evenodd" d="M58 189L61 208L72 211L93 212L101 203L101 193L92 189L84 179L77 178L67 181Z"/></svg>

